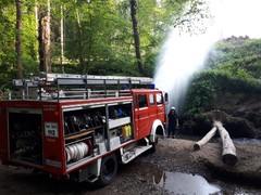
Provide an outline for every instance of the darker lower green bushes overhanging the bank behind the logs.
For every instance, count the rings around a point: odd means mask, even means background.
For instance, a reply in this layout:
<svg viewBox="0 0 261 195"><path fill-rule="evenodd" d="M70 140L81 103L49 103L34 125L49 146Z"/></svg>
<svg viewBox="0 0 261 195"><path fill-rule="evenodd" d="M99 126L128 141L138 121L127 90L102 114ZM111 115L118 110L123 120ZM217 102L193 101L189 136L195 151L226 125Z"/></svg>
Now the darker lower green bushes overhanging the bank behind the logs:
<svg viewBox="0 0 261 195"><path fill-rule="evenodd" d="M234 102L249 94L259 94L261 93L261 80L238 76L229 69L202 72L195 76L189 87L185 113L196 114L220 108L220 101L225 99L224 95L227 93L234 94Z"/></svg>

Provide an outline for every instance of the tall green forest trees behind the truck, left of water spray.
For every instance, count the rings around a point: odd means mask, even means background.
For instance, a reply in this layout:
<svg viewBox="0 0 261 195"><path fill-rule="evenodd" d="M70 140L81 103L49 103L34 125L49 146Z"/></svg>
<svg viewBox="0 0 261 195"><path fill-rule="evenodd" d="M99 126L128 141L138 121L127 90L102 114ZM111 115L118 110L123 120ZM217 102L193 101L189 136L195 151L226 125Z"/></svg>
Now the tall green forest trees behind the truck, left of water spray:
<svg viewBox="0 0 261 195"><path fill-rule="evenodd" d="M38 72L152 77L167 28L200 14L201 3L3 0L0 84Z"/></svg>

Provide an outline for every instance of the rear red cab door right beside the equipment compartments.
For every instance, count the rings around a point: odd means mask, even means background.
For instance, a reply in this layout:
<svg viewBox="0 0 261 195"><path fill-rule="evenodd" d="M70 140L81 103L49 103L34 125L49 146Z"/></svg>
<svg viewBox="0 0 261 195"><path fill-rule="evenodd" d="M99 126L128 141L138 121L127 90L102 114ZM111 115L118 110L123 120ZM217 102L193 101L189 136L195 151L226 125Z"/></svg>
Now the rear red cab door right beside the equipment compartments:
<svg viewBox="0 0 261 195"><path fill-rule="evenodd" d="M141 139L149 134L149 113L146 94L135 95L135 136Z"/></svg>

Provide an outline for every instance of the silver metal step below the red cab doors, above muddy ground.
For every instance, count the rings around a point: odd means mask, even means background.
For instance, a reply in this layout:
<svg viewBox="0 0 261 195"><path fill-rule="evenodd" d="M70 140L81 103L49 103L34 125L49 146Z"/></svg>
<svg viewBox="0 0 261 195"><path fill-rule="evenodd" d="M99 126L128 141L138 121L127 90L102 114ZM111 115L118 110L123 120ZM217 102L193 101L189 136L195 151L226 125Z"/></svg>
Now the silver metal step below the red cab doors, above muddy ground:
<svg viewBox="0 0 261 195"><path fill-rule="evenodd" d="M152 145L146 145L146 146L139 145L139 146L136 146L136 147L127 151L126 153L124 153L122 155L122 162L123 164L129 162L130 160L133 160L134 158L136 158L137 156L142 154L144 152L150 150L151 147L152 147Z"/></svg>

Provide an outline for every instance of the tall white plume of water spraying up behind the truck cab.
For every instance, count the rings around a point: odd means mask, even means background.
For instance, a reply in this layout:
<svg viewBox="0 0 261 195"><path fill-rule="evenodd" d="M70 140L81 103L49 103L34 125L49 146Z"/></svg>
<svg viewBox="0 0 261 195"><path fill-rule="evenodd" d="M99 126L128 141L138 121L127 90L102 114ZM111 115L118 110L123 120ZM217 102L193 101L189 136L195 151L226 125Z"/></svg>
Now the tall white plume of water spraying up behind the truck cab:
<svg viewBox="0 0 261 195"><path fill-rule="evenodd" d="M181 108L190 78L202 68L213 40L211 36L179 36L175 29L170 31L154 77L157 88L169 93L170 106L175 106L177 110Z"/></svg>

